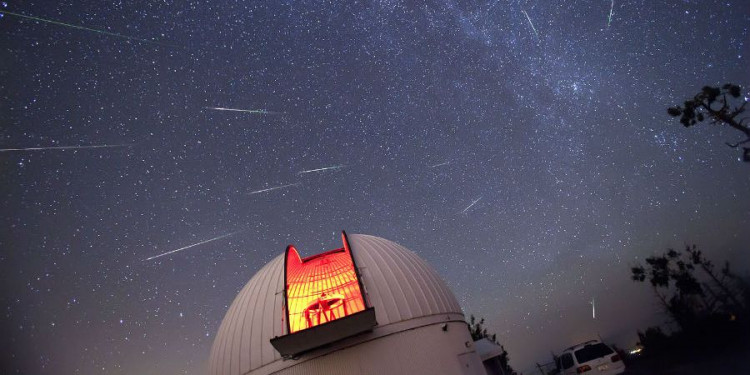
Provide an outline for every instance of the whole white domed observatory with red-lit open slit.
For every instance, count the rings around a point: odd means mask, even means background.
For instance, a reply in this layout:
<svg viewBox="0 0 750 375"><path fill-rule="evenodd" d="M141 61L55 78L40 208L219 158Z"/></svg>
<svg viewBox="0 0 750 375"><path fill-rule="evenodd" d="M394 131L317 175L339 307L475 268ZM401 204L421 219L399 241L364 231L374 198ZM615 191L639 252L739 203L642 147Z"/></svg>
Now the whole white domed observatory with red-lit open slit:
<svg viewBox="0 0 750 375"><path fill-rule="evenodd" d="M290 245L250 279L209 374L485 374L456 297L425 261L383 238L342 240L308 257Z"/></svg>

